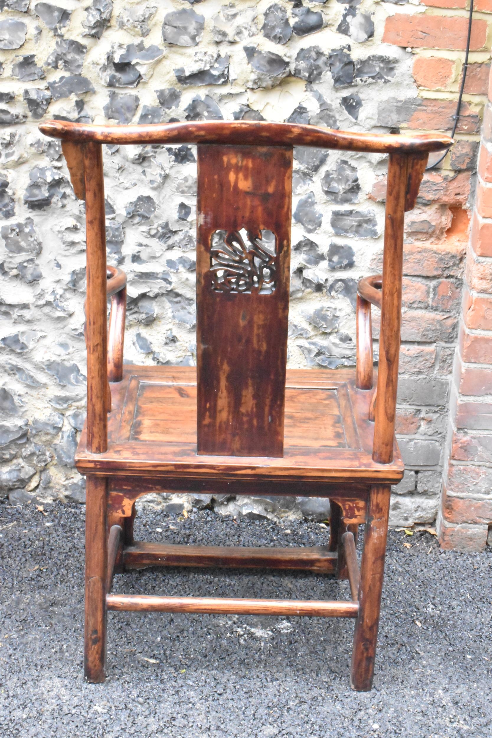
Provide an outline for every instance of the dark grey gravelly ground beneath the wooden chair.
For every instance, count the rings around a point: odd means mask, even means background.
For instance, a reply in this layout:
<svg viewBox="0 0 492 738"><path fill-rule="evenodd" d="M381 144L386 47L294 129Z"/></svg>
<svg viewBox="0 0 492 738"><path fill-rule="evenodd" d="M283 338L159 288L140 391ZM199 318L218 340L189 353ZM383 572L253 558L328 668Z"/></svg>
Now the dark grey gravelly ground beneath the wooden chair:
<svg viewBox="0 0 492 738"><path fill-rule="evenodd" d="M2 738L490 738L492 551L389 535L373 692L349 686L353 622L109 613L108 679L86 684L84 508L0 505ZM146 511L136 537L316 545L316 523ZM411 548L403 542L410 541ZM311 574L134 571L114 591L347 599Z"/></svg>

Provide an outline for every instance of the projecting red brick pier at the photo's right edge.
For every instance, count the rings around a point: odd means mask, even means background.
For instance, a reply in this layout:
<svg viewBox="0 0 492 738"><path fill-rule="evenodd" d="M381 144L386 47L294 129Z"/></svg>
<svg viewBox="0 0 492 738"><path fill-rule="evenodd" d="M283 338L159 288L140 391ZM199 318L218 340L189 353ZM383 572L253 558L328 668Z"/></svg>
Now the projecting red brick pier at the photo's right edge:
<svg viewBox="0 0 492 738"><path fill-rule="evenodd" d="M492 543L492 75L480 142L438 519L444 548Z"/></svg>

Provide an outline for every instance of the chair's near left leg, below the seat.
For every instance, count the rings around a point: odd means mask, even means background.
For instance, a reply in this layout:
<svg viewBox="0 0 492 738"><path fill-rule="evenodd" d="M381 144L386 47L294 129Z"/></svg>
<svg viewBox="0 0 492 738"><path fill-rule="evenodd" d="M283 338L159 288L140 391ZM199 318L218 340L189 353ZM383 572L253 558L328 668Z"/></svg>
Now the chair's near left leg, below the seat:
<svg viewBox="0 0 492 738"><path fill-rule="evenodd" d="M84 674L89 682L105 680L106 661L106 533L105 477L87 477L86 486L86 624Z"/></svg>

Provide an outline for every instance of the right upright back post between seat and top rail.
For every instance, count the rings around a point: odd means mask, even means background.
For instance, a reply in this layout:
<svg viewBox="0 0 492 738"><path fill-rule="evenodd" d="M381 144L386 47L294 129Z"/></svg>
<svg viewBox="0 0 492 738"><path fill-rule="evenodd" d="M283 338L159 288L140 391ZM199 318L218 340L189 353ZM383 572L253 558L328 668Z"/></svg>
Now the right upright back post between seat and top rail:
<svg viewBox="0 0 492 738"><path fill-rule="evenodd" d="M373 445L373 460L378 463L390 463L393 459L398 358L401 341L403 219L410 162L412 159L407 154L389 155L384 222L378 397L375 406Z"/></svg>

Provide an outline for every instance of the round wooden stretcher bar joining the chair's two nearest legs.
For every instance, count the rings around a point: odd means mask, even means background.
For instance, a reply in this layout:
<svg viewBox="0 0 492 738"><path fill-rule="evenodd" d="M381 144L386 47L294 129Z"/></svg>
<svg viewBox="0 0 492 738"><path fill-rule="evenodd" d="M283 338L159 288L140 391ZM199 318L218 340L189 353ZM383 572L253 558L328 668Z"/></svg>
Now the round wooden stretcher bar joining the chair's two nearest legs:
<svg viewBox="0 0 492 738"><path fill-rule="evenodd" d="M131 613L311 615L318 618L356 618L358 613L357 602L153 595L108 595L106 607Z"/></svg>

